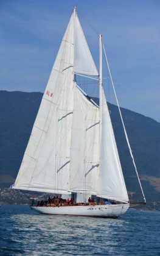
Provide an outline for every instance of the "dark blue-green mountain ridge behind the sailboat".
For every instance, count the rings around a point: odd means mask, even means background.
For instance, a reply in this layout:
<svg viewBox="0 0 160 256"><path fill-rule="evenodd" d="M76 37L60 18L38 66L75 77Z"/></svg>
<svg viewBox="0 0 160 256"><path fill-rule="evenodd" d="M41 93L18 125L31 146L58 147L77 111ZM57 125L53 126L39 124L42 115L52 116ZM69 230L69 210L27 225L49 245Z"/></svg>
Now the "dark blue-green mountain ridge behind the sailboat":
<svg viewBox="0 0 160 256"><path fill-rule="evenodd" d="M0 188L15 180L42 96L0 91ZM118 109L110 103L108 107L128 193L130 198L142 200ZM121 111L148 205L160 209L160 123L125 108Z"/></svg>

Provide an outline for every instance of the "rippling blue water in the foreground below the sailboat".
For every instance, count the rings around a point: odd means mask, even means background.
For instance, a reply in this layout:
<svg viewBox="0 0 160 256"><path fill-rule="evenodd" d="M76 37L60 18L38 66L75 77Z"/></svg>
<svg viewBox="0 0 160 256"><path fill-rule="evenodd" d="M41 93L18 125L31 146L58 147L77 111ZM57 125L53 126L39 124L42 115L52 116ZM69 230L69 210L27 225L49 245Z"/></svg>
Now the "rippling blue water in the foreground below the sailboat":
<svg viewBox="0 0 160 256"><path fill-rule="evenodd" d="M0 255L160 255L160 212L97 219L2 205L0 237Z"/></svg>

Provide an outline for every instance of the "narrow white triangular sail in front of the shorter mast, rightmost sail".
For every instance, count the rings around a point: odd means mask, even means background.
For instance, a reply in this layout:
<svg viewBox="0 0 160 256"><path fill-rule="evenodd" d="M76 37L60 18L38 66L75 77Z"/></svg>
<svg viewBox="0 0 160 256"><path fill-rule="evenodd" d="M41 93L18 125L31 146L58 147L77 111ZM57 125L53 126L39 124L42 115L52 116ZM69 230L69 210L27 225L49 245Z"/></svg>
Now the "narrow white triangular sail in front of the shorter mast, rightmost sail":
<svg viewBox="0 0 160 256"><path fill-rule="evenodd" d="M102 88L102 137L100 141L100 171L98 196L116 201L128 201L119 154L114 138L110 113Z"/></svg>

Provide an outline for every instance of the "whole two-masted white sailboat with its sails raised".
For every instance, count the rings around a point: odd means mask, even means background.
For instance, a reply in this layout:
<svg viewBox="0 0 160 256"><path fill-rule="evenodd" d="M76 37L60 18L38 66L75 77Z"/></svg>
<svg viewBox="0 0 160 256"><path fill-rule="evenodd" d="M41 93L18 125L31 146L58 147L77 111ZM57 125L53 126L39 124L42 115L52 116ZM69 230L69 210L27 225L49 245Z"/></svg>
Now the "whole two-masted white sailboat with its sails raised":
<svg viewBox="0 0 160 256"><path fill-rule="evenodd" d="M102 50L99 35L98 72L74 7L12 187L74 194L74 204L33 205L40 213L117 218L130 207L103 90ZM99 105L78 87L77 76L99 81Z"/></svg>

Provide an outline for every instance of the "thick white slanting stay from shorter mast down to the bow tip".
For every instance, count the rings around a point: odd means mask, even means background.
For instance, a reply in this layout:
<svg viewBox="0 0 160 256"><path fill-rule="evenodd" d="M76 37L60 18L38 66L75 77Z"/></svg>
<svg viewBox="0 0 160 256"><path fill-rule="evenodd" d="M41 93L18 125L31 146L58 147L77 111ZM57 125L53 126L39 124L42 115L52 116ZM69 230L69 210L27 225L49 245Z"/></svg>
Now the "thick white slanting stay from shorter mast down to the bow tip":
<svg viewBox="0 0 160 256"><path fill-rule="evenodd" d="M111 76L110 66L109 66L109 64L108 64L108 60L107 60L107 57L106 57L106 51L105 51L105 46L104 46L104 44L103 44L103 51L104 51L104 54L105 54L106 65L107 65L107 67L108 67L108 71L109 71L109 74L110 74L111 84L112 84L113 90L114 90L114 95L115 95L115 97L116 97L117 107L118 107L118 109L119 109L120 119L121 119L121 121L122 121L123 130L124 130L124 133L125 133L125 138L126 138L126 140L127 140L127 144L128 144L128 148L129 148L129 151L130 151L130 155L131 155L132 161L133 161L134 169L135 169L135 171L136 171L137 179L138 179L138 181L139 181L139 185L140 185L140 187L141 187L142 195L143 195L143 197L144 197L144 202L146 202L145 196L144 196L144 191L143 191L143 189L142 189L141 181L140 181L140 179L139 179L139 175L138 175L138 172L137 172L136 163L134 162L134 157L133 157L133 152L132 152L132 150L131 150L130 141L129 141L129 139L128 139L127 131L126 131L126 129L125 129L125 124L124 124L124 122L123 122L122 113L121 113L121 111L120 111L119 102L118 102L118 99L117 99L116 90L115 90L114 83L113 83L113 79L112 79L112 76Z"/></svg>

